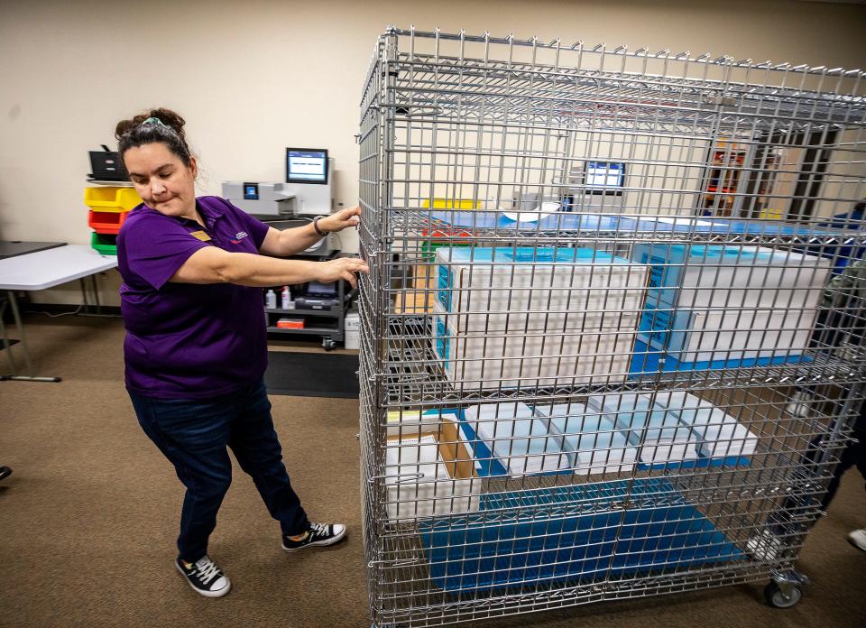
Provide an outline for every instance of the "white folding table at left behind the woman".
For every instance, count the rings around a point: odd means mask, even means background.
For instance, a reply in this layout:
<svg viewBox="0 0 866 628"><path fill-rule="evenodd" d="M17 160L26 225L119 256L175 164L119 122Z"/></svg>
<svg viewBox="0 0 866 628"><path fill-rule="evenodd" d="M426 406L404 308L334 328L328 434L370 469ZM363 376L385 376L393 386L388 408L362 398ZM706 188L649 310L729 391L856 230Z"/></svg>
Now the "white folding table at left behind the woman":
<svg viewBox="0 0 866 628"><path fill-rule="evenodd" d="M3 344L12 368L11 375L0 376L0 379L25 380L29 382L60 382L60 377L37 377L27 349L27 340L24 337L24 326L21 322L21 313L15 301L15 291L37 291L53 288L61 283L72 282L76 279L83 280L85 277L95 275L116 268L117 257L115 255L103 255L97 253L86 245L65 245L36 253L19 254L14 257L0 259L0 290L6 291L15 328L21 344L21 352L28 374L19 375L16 372L15 360L12 354L12 346L6 334L3 324L3 308L0 308L0 332L3 335ZM96 286L94 286L96 288ZM82 286L82 291L84 287ZM96 293L96 290L94 290ZM84 291L84 305L87 306L87 292ZM98 306L98 296L97 296Z"/></svg>

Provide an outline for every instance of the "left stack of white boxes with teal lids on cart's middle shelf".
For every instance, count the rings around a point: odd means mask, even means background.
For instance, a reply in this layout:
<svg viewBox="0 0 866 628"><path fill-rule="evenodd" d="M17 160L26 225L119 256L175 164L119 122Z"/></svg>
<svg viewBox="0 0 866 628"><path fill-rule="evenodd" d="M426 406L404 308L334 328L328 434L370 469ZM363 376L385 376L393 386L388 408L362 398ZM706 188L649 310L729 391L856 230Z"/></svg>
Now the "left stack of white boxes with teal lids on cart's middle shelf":
<svg viewBox="0 0 866 628"><path fill-rule="evenodd" d="M486 389L622 381L648 268L594 249L440 248L434 349Z"/></svg>

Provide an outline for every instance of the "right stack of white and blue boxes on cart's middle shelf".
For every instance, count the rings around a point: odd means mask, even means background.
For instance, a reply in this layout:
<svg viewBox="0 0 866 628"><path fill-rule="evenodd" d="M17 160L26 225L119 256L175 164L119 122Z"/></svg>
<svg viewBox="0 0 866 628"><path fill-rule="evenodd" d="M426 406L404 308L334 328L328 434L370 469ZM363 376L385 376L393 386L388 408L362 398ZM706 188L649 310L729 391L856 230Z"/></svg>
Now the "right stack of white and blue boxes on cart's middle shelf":
<svg viewBox="0 0 866 628"><path fill-rule="evenodd" d="M668 368L686 369L802 354L831 265L732 245L635 245L632 260L651 269L638 340L666 351Z"/></svg>

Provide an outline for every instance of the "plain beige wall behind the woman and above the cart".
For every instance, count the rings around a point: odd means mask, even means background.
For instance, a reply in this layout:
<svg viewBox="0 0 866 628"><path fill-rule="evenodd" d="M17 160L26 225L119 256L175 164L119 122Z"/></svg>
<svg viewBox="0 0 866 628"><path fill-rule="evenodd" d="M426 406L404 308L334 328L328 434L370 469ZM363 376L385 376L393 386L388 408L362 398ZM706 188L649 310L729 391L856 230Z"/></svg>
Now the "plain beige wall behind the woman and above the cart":
<svg viewBox="0 0 866 628"><path fill-rule="evenodd" d="M87 243L87 151L148 106L187 117L201 193L281 180L285 146L324 146L354 203L360 88L389 23L866 67L866 8L793 0L2 2L0 238ZM115 274L101 282L116 303Z"/></svg>

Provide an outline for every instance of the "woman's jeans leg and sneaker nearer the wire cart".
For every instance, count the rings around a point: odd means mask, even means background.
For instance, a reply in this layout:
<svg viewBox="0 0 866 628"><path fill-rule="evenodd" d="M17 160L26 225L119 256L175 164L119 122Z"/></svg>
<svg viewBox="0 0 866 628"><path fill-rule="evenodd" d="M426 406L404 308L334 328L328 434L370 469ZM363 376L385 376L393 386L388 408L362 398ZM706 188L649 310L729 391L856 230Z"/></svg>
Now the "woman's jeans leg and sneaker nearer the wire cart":
<svg viewBox="0 0 866 628"><path fill-rule="evenodd" d="M229 447L241 468L253 478L271 516L280 522L283 549L331 545L345 535L345 526L311 523L291 487L282 462L282 448L273 428L271 402L264 383L258 383L239 401ZM296 548L296 544L298 547Z"/></svg>

